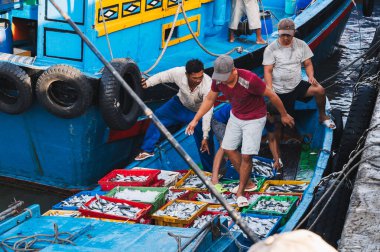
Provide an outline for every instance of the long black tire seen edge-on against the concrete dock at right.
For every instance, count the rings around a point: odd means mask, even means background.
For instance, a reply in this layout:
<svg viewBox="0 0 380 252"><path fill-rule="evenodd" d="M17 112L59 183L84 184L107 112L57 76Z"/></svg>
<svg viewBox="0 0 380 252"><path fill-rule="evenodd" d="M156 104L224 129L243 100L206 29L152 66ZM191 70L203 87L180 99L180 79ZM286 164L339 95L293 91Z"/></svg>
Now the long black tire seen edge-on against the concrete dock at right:
<svg viewBox="0 0 380 252"><path fill-rule="evenodd" d="M347 163L350 153L356 148L357 142L369 127L373 108L377 97L377 88L371 83L358 83L355 87L354 96L344 128L334 172L342 170Z"/></svg>

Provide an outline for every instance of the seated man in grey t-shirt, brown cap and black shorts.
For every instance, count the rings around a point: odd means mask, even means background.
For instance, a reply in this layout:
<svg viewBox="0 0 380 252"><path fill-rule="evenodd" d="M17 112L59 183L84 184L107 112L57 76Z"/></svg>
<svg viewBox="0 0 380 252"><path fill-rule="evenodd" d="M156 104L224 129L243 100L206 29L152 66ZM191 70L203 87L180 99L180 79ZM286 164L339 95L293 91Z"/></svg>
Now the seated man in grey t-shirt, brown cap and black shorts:
<svg viewBox="0 0 380 252"><path fill-rule="evenodd" d="M294 116L296 100L308 101L313 96L319 109L319 121L326 127L335 129L334 122L326 115L326 95L324 88L314 78L311 62L313 53L302 40L294 37L293 20L284 18L278 23L279 38L264 51L264 79L273 89L286 110ZM308 81L301 78L301 65L305 66Z"/></svg>

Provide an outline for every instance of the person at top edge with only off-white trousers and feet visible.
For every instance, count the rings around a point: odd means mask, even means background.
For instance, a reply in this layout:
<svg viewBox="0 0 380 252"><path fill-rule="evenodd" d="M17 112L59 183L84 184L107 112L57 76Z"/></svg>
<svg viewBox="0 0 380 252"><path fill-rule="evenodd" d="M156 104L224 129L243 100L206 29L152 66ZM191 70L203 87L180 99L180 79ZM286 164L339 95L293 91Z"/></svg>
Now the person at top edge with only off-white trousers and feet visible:
<svg viewBox="0 0 380 252"><path fill-rule="evenodd" d="M247 15L249 29L256 31L256 44L265 44L266 42L261 36L260 10L257 0L232 1L229 41L235 41L234 31L237 30L243 14Z"/></svg>

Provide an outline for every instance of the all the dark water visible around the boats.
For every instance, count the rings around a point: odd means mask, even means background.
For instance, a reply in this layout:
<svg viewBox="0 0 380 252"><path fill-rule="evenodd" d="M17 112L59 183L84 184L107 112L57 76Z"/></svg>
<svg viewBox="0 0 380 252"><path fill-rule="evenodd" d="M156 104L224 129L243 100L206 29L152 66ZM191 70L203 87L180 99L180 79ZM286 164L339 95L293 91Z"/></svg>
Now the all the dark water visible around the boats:
<svg viewBox="0 0 380 252"><path fill-rule="evenodd" d="M348 65L369 47L376 27L380 25L380 1L375 2L377 3L372 17L363 18L361 14L357 14L356 10L352 12L334 54L323 64L315 66L316 76L319 81L326 79L337 72L338 69ZM358 63L355 66L358 66ZM357 72L348 76L353 69L345 70L334 80L324 85L328 87L337 83L335 86L327 88L326 92L332 106L341 109L345 116L348 114L352 99L352 89L358 77ZM20 189L16 186L3 184L0 184L0 195L0 211L9 205L13 198L24 201L25 207L31 204L40 204L42 212L51 209L54 204L66 198L66 196L52 192Z"/></svg>

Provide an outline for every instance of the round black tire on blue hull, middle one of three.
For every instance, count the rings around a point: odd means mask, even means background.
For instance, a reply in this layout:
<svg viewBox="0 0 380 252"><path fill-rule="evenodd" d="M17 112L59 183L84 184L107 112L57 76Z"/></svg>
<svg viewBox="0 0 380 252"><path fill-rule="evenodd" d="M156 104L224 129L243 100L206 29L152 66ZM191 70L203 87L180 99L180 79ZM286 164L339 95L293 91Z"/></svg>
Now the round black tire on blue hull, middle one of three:
<svg viewBox="0 0 380 252"><path fill-rule="evenodd" d="M94 90L78 69L55 65L38 78L36 95L50 113L62 118L74 118L90 107Z"/></svg>

